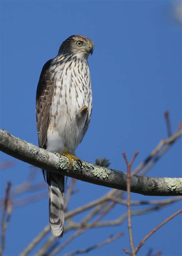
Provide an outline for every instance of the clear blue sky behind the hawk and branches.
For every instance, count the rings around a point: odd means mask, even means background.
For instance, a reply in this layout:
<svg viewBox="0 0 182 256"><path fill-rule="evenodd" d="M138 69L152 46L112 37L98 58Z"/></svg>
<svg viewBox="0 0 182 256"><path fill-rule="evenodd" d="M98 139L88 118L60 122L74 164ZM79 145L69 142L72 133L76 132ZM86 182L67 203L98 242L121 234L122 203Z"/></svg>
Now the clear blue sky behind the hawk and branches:
<svg viewBox="0 0 182 256"><path fill-rule="evenodd" d="M76 153L88 162L94 162L96 157L109 158L111 168L126 171L121 152L131 158L139 150L135 167L167 137L164 111L170 111L173 131L181 118L181 27L174 19L174 3L1 1L1 128L38 145L35 95L43 64L57 55L67 37L85 35L95 45L88 59L93 114ZM177 141L147 175L179 177L180 146ZM12 158L1 154L1 159ZM13 161L12 168L1 172L1 195L7 180L16 186L30 172L28 164ZM41 172L37 180L43 180ZM70 209L109 190L81 181L76 187L79 194L74 196ZM157 199L134 194L131 198ZM179 207L180 203L175 203L159 212L133 217L134 244ZM124 206L116 207L109 218L125 211ZM5 255L18 255L47 223L47 199L15 209L7 229ZM139 255L154 248L154 252L161 250L164 256L179 256L180 230L177 216L146 242ZM120 231L124 237L90 255L125 255L122 247L129 249L126 222L118 227L91 230L71 243L64 253L99 243Z"/></svg>

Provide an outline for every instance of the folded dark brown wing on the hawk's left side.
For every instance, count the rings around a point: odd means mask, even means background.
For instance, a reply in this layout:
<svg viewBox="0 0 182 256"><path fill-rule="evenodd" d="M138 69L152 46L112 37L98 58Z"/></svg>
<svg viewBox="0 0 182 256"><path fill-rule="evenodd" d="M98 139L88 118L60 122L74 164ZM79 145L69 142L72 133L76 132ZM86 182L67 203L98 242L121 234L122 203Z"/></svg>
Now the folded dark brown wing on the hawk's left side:
<svg viewBox="0 0 182 256"><path fill-rule="evenodd" d="M40 148L46 148L47 130L50 122L50 107L53 98L54 82L50 77L52 59L46 62L40 74L36 90L36 127Z"/></svg>

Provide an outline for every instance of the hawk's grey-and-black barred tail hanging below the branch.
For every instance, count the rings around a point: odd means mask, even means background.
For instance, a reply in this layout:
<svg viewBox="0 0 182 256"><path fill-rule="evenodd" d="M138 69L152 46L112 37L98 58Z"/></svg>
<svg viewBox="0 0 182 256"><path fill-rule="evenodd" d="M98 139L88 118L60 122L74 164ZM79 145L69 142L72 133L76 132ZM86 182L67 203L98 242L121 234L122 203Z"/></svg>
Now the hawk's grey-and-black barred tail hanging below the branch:
<svg viewBox="0 0 182 256"><path fill-rule="evenodd" d="M49 223L53 236L63 236L65 176L48 173Z"/></svg>

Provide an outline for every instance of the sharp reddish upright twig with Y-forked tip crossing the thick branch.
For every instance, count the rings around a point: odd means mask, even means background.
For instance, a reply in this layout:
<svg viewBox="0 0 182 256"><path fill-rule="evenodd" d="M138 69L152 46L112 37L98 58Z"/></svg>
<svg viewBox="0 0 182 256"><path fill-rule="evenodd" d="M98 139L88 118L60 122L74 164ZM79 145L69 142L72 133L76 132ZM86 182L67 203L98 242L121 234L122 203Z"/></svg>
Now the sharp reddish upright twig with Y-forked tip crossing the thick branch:
<svg viewBox="0 0 182 256"><path fill-rule="evenodd" d="M136 156L138 155L138 151L135 152L132 160L130 163L128 163L126 153L123 152L122 155L124 157L124 160L127 165L127 217L128 217L128 231L129 231L129 241L130 241L130 247L131 247L131 255L135 256L135 249L133 245L133 236L132 236L132 227L131 227L131 205L130 205L130 180L131 180L131 166L134 162ZM126 249L124 248L124 251L126 252Z"/></svg>

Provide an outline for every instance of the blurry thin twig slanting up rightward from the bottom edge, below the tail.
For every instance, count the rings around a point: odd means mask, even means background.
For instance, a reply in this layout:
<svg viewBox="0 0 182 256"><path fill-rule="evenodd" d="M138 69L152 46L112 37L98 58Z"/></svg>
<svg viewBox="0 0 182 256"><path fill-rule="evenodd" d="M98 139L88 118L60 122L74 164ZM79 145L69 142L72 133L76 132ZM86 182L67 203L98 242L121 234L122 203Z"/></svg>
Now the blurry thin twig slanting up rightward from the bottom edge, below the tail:
<svg viewBox="0 0 182 256"><path fill-rule="evenodd" d="M95 244L89 248L86 248L86 249L83 249L83 250L76 250L76 251L73 251L72 253L66 253L64 256L73 256L73 255L76 255L76 254L81 254L81 253L88 253L89 251L92 251L92 250L95 250L95 249L98 249L100 247L103 247L104 245L106 244L109 244L115 240L117 240L118 238L120 238L121 236L123 236L123 233L119 233L118 235L116 236L110 236L107 240L103 241L102 243L100 244Z"/></svg>

